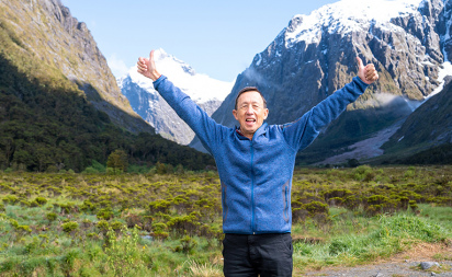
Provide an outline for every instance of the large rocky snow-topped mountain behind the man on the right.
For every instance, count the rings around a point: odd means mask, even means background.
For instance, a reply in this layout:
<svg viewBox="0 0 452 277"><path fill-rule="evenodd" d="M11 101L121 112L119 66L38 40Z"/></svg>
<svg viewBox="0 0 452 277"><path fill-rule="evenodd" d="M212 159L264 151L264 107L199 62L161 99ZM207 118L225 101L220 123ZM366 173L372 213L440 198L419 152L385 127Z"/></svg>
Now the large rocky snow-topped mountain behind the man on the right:
<svg viewBox="0 0 452 277"><path fill-rule="evenodd" d="M442 90L444 78L452 76L451 11L449 0L342 0L295 15L237 77L213 118L234 126L235 95L257 85L268 101L269 124L295 120L357 74L359 56L375 65L378 82L307 149L317 158L349 151L399 126L414 107ZM394 131L384 134L378 146L365 147L380 148ZM191 145L200 146L196 140Z"/></svg>

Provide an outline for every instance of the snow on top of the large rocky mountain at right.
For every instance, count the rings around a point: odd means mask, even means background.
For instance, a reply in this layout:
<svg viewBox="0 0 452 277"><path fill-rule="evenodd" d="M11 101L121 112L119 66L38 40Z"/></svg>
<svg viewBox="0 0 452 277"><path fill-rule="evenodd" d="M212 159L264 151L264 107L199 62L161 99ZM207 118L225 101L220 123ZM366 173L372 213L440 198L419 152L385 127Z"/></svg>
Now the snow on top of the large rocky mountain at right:
<svg viewBox="0 0 452 277"><path fill-rule="evenodd" d="M369 27L370 24L389 25L393 18L417 13L425 0L341 0L313 11L309 15L297 14L285 32L286 47L295 43L317 43L324 28L329 33L348 33Z"/></svg>

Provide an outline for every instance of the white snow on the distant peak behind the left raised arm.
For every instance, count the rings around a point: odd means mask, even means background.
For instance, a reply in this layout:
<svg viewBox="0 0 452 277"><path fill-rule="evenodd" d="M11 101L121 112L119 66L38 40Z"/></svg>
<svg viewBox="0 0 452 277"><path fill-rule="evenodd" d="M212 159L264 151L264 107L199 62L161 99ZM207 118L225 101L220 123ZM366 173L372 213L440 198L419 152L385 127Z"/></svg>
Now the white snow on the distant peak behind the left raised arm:
<svg viewBox="0 0 452 277"><path fill-rule="evenodd" d="M155 50L154 58L158 71L199 104L212 100L223 101L233 89L234 82L224 82L196 73L191 66L168 55L161 48ZM147 91L154 90L152 81L139 74L136 66L129 69L128 76L140 88Z"/></svg>

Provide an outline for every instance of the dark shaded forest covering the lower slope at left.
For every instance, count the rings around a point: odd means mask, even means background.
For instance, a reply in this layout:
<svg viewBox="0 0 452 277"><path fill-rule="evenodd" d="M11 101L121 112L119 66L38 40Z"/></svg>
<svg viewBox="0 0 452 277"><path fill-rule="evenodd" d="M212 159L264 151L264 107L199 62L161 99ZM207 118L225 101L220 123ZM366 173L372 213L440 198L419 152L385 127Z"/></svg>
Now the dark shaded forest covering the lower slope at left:
<svg viewBox="0 0 452 277"><path fill-rule="evenodd" d="M2 35L4 30L0 27ZM61 72L55 68L47 70L38 65L41 61L9 44L9 36L0 39L0 170L81 172L91 166L102 172L98 162L105 164L116 149L122 149L134 164L161 162L171 166L182 164L190 170L214 165L212 157L189 147L148 132L134 135L115 126ZM26 62L20 62L21 59ZM30 71L41 73L38 77L24 73Z"/></svg>

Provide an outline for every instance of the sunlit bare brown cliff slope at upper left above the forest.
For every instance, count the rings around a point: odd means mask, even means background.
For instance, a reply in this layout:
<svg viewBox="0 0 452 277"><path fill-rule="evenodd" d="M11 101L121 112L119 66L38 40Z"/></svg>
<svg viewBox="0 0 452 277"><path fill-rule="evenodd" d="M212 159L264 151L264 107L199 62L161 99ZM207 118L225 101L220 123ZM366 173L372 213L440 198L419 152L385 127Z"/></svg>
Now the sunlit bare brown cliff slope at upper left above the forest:
<svg viewBox="0 0 452 277"><path fill-rule="evenodd" d="M72 18L59 0L2 0L0 10L1 24L15 35L30 58L60 71L123 128L154 131L122 95L87 25Z"/></svg>

